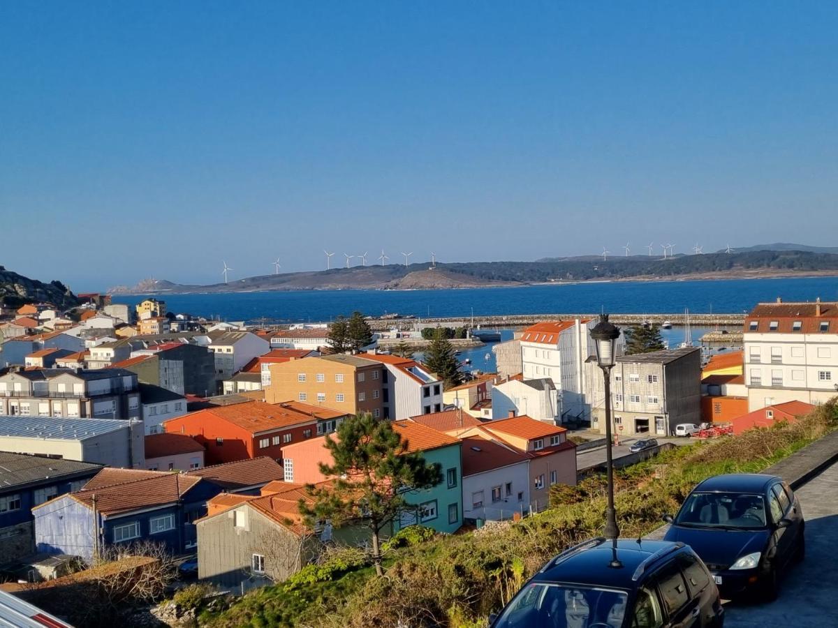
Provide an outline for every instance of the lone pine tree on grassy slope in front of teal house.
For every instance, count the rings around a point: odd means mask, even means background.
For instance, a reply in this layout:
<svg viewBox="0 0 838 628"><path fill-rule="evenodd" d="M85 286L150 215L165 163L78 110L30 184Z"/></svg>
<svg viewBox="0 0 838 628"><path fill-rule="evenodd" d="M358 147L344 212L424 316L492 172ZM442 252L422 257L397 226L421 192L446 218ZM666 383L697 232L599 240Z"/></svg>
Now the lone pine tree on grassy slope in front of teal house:
<svg viewBox="0 0 838 628"><path fill-rule="evenodd" d="M307 486L313 504L301 500L300 512L309 527L328 519L335 527L360 522L368 528L375 573L383 575L381 531L403 512L414 511L406 494L436 486L442 471L438 464L428 464L421 452L408 452L407 441L390 421L375 420L369 413L344 420L337 439L326 436L325 442L333 463L320 463L320 471L334 480L330 486ZM408 491L394 490L406 486Z"/></svg>

